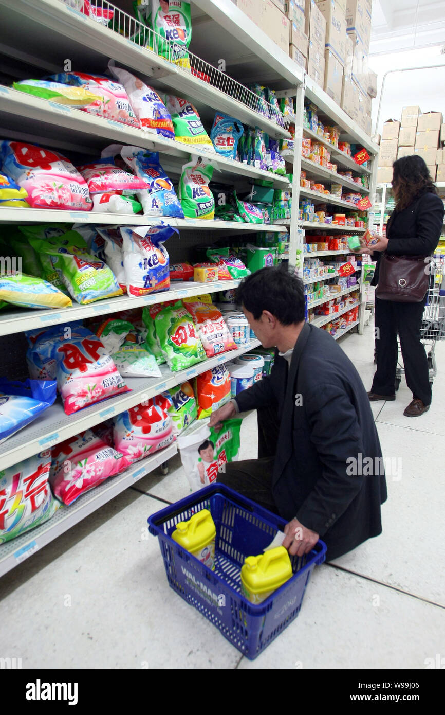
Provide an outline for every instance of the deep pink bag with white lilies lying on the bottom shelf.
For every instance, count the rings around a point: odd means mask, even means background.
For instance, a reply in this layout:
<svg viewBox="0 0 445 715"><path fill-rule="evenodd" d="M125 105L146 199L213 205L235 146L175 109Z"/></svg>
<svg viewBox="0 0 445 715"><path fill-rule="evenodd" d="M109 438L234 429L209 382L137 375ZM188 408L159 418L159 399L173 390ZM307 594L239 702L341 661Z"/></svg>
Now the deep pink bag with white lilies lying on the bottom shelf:
<svg viewBox="0 0 445 715"><path fill-rule="evenodd" d="M54 495L64 504L121 473L129 460L92 430L65 440L53 448L49 481Z"/></svg>

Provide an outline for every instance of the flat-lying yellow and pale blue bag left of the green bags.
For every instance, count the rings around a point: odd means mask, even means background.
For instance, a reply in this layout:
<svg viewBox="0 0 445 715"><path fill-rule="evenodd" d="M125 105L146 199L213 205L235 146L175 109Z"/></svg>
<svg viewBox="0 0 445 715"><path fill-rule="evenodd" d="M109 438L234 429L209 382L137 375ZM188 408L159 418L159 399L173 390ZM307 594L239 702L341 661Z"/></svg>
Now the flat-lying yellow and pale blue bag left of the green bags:
<svg viewBox="0 0 445 715"><path fill-rule="evenodd" d="M31 275L0 275L0 300L26 308L66 308L73 305L67 295Z"/></svg>

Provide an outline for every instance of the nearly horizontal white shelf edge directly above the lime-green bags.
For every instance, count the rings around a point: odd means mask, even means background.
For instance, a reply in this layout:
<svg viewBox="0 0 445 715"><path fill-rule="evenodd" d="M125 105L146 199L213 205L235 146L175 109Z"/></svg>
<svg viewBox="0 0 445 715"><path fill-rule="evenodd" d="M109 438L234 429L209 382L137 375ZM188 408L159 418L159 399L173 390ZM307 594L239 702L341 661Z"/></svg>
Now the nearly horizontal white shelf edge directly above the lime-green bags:
<svg viewBox="0 0 445 715"><path fill-rule="evenodd" d="M0 223L88 223L108 226L158 226L162 222L182 229L219 229L223 231L277 231L284 229L276 224L248 224L236 221L208 221L204 219L174 219L169 216L134 216L126 214L101 214L95 211L64 211L61 209L0 208Z"/></svg>

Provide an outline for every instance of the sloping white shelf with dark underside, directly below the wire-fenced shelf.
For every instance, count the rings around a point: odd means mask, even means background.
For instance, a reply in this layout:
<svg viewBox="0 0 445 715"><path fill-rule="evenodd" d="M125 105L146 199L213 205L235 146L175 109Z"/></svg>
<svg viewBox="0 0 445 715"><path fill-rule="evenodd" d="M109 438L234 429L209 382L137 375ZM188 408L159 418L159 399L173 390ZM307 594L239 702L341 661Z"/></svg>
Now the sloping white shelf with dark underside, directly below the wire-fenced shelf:
<svg viewBox="0 0 445 715"><path fill-rule="evenodd" d="M46 133L48 144L56 149L98 154L108 142L130 144L171 157L170 161L173 159L173 170L176 173L180 173L182 164L189 161L190 147L187 147L184 142L161 137L160 134L153 134L146 129L129 127L121 122L96 117L76 107L65 107L1 84L0 97L0 126L4 134L8 129L11 135L14 134L19 117L21 136L25 133L29 141L33 141L34 135L37 134L41 143L44 141L42 134ZM56 132L54 127L57 127ZM273 182L277 189L285 190L289 187L286 177L256 169L234 159L226 159L216 152L205 152L205 155L207 154L211 156L215 169L220 169L227 178L236 180L241 176L247 179L265 179ZM161 164L165 164L162 157Z"/></svg>

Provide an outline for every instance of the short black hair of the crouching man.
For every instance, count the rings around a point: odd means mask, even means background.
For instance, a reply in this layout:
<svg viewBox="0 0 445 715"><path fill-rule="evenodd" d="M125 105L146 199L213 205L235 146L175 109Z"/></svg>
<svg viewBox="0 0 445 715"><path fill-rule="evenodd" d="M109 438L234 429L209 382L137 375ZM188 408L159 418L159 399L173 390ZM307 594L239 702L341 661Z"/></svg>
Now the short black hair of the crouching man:
<svg viewBox="0 0 445 715"><path fill-rule="evenodd" d="M261 268L236 290L236 302L259 320L263 310L269 310L281 325L294 325L304 320L304 285L293 267L283 264Z"/></svg>

